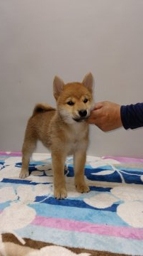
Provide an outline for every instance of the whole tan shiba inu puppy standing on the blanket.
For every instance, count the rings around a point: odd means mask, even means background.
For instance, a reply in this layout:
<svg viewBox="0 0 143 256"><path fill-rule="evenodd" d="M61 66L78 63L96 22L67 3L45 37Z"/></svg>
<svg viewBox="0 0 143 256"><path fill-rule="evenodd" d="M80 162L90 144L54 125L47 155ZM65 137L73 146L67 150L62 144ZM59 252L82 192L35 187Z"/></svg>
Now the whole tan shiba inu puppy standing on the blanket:
<svg viewBox="0 0 143 256"><path fill-rule="evenodd" d="M88 73L83 82L70 82L64 85L57 76L53 82L57 109L38 104L28 121L23 142L22 169L20 178L29 175L28 166L36 142L52 151L52 170L54 173L54 196L57 199L67 197L64 179L64 161L68 155L74 155L74 173L76 190L88 192L84 181L84 165L88 146L88 119L93 107L93 76Z"/></svg>

